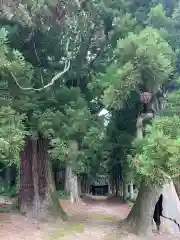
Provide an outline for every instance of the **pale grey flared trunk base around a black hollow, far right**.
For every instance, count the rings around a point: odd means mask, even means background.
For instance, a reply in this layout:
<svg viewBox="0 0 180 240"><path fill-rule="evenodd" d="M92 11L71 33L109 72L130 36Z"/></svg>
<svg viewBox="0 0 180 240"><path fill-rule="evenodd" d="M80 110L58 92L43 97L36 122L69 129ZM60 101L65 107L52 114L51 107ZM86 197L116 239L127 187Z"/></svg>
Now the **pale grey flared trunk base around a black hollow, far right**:
<svg viewBox="0 0 180 240"><path fill-rule="evenodd" d="M173 182L164 185L159 190L142 183L136 203L127 219L122 222L127 231L139 236L152 235L153 213L160 194L163 195L163 215L180 223L180 201ZM171 234L179 232L179 227L174 221L167 218L161 218L161 232Z"/></svg>

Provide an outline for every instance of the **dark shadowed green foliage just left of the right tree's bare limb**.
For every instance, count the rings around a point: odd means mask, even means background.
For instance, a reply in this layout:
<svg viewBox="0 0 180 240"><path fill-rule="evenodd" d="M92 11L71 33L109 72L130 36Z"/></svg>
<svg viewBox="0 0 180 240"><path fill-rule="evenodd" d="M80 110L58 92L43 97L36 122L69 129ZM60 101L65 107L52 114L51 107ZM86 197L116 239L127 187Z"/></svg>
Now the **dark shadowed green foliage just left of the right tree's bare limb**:
<svg viewBox="0 0 180 240"><path fill-rule="evenodd" d="M132 150L132 141L136 134L136 121L141 110L136 93L131 94L123 109L113 111L107 128L109 145L108 169L112 179L117 176L125 181L134 179L132 169L127 164L127 156Z"/></svg>

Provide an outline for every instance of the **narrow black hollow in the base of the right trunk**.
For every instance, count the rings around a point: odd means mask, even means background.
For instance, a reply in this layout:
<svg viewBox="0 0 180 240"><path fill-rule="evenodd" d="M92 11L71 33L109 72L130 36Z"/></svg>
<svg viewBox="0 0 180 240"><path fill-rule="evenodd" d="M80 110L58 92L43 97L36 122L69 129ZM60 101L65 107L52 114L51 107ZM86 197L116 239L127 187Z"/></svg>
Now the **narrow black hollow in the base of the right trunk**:
<svg viewBox="0 0 180 240"><path fill-rule="evenodd" d="M161 216L163 211L162 204L163 204L163 195L161 194L159 197L159 200L156 203L154 215L153 215L153 219L156 223L158 233L160 233Z"/></svg>

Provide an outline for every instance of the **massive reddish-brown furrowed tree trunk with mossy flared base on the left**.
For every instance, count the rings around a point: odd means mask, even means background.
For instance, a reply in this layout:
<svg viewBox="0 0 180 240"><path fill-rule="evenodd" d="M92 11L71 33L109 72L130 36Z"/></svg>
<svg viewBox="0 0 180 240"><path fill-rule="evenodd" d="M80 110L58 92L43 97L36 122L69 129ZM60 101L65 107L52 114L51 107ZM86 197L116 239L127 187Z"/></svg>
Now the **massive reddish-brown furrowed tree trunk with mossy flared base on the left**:
<svg viewBox="0 0 180 240"><path fill-rule="evenodd" d="M46 140L27 141L21 156L20 212L37 220L65 217L56 196Z"/></svg>

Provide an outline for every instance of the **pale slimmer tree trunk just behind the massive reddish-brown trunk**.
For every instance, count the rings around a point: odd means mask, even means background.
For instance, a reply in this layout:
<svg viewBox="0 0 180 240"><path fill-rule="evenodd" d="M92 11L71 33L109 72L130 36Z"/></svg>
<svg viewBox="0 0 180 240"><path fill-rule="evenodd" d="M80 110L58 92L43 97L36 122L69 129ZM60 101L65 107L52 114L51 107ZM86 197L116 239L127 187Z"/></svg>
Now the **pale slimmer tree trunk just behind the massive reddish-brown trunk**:
<svg viewBox="0 0 180 240"><path fill-rule="evenodd" d="M66 192L70 197L71 203L80 201L78 191L78 177L75 171L73 171L71 164L67 164L66 166Z"/></svg>

